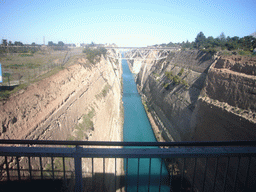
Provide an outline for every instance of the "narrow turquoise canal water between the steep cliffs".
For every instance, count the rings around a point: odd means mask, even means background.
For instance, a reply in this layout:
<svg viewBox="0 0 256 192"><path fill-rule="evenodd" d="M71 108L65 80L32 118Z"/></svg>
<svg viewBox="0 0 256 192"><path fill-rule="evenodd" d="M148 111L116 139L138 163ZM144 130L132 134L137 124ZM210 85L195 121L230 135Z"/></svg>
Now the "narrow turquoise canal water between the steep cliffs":
<svg viewBox="0 0 256 192"><path fill-rule="evenodd" d="M122 60L122 67L124 141L156 142L147 114L138 94L134 76L130 72L126 60ZM170 191L170 188L165 185L165 183L168 183L168 172L164 163L161 163L161 159L151 159L150 164L148 158L131 158L128 160L128 168L126 160L124 162L124 167L127 174L126 191L159 191L159 189L160 191ZM159 187L160 182L161 187Z"/></svg>

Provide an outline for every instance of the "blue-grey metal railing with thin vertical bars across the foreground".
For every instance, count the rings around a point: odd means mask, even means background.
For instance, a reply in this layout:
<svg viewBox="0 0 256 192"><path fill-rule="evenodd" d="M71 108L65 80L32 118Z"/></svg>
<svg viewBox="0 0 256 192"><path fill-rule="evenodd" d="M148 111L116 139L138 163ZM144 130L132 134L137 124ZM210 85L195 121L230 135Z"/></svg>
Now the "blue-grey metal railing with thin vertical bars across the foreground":
<svg viewBox="0 0 256 192"><path fill-rule="evenodd" d="M33 147L21 147L21 146L5 146L11 145L11 144L25 144L25 145L72 145L74 147L43 147L43 146L33 146ZM136 148L132 147L124 147L124 148L83 148L81 145L91 145L91 146L136 146ZM139 146L139 147L138 147ZM144 146L144 147L142 147ZM146 148L149 146L155 146L154 148ZM158 148L157 146L166 146L166 148ZM178 147L177 147L178 146ZM103 167L105 166L105 158L114 158L115 162L116 159L122 158L126 159L126 169L128 170L128 159L135 158L138 159L138 167L140 159L143 158L150 158L149 166L151 167L151 158L160 158L161 162L163 162L163 159L183 159L183 174L181 175L182 179L184 178L184 170L185 170L185 161L186 166L191 165L194 166L194 173L196 172L197 167L200 167L199 170L210 171L210 173L214 174L214 184L217 182L217 170L218 170L218 162L219 159L227 159L226 161L226 172L221 171L218 174L223 175L224 177L224 183L227 182L229 179L227 177L227 173L229 172L229 169L232 169L233 167L237 170L236 175L239 173L238 170L240 170L240 160L244 162L244 159L247 160L247 169L244 171L244 174L247 175L245 179L244 186L248 186L247 181L250 178L255 178L254 176L250 176L250 172L254 172L252 169L255 165L255 158L256 158L256 141L203 141L203 142L109 142L109 141L60 141L60 140L0 140L0 157L2 157L2 163L4 166L2 167L2 174L6 173L4 176L7 178L7 180L10 180L10 177L13 177L10 173L13 173L13 171L17 171L18 175L14 175L14 177L17 177L19 180L21 180L21 171L24 171L25 169L22 168L19 165L19 158L20 157L27 157L29 168L25 171L29 171L29 176L32 179L32 168L31 168L31 158L39 158L40 162L40 170L41 172L41 179L43 179L44 175L43 172L45 172L43 166L42 166L42 159L44 158L51 158L51 166L52 169L50 170L52 172L52 178L54 179L54 173L58 171L58 169L54 168L54 158L62 158L63 162L63 177L65 179L65 158L71 158L74 161L74 172L75 172L75 190L78 192L83 191L83 172L82 172L82 159L83 158L89 158L92 162L92 180L94 175L93 171L93 159L94 158L103 158ZM10 166L12 163L12 160L8 160L8 157L12 157L16 159L17 162L17 169L13 169L13 167ZM194 165L191 164L192 160L189 160L193 158L194 159ZM197 159L205 159L205 165L199 165L197 164ZM209 168L207 165L207 162L209 158L216 159L215 162L217 163L216 166ZM237 164L230 164L230 159L237 159ZM176 160L175 160L176 161ZM202 162L201 162L202 163ZM213 162L212 162L213 163ZM223 163L223 162L222 162ZM245 163L245 162L244 162ZM252 164L252 166L251 166ZM50 164L49 164L50 165ZM116 163L115 163L115 170L116 170ZM162 164L161 164L162 167ZM9 169L12 169L12 172L9 171ZM15 166L14 166L15 168ZM138 168L139 169L139 168ZM162 168L161 168L162 169ZM174 165L172 164L172 169L174 170ZM33 171L37 171L36 169ZM208 171L208 172L209 172ZM173 172L171 172L173 174ZM189 172L190 174L190 182L192 182L191 186L192 189L196 188L194 186L194 178L195 174L192 172ZM115 173L116 174L116 173ZM105 168L103 168L103 175L105 175ZM161 175L161 172L160 172ZM149 173L150 176L150 173ZM172 177L173 175L171 175ZM105 176L104 176L105 177ZM127 177L127 173L126 176ZM160 176L161 177L161 176ZM170 182L172 181L170 177ZM236 176L235 176L236 177ZM128 178L128 177L127 177ZM138 171L138 177L139 178L139 171ZM202 181L205 183L206 174L204 174L204 177L201 179L199 178L198 181ZM220 180L220 178L217 178ZM139 183L139 179L137 181ZM159 186L161 187L162 183L159 181ZM116 175L115 175L115 183L116 183ZM234 181L234 187L237 186L237 181L235 179ZM104 181L103 181L103 185ZM171 186L171 185L170 185ZM127 183L126 183L127 187ZM114 187L116 189L116 187ZM138 190L138 185L137 185ZM225 184L224 184L224 190L225 190Z"/></svg>

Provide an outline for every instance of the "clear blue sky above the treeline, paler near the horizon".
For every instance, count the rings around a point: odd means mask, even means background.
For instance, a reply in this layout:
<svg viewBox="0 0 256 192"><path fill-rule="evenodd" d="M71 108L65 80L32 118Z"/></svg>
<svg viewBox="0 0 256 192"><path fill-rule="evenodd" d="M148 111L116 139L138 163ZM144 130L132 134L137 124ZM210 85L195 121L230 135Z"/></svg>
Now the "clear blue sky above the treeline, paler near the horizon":
<svg viewBox="0 0 256 192"><path fill-rule="evenodd" d="M147 46L256 31L255 0L0 0L1 39Z"/></svg>

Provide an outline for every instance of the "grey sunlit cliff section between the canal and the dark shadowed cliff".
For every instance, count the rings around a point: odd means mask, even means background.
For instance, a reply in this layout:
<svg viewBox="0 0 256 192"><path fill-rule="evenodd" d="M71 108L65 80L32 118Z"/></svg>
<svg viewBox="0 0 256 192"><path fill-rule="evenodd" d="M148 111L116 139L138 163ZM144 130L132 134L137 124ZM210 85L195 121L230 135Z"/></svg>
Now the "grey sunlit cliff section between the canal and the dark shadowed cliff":
<svg viewBox="0 0 256 192"><path fill-rule="evenodd" d="M153 117L165 140L191 140L191 116L207 69L214 60L206 53L186 51L171 53L166 60L152 59L142 64L136 80L138 89L155 114Z"/></svg>

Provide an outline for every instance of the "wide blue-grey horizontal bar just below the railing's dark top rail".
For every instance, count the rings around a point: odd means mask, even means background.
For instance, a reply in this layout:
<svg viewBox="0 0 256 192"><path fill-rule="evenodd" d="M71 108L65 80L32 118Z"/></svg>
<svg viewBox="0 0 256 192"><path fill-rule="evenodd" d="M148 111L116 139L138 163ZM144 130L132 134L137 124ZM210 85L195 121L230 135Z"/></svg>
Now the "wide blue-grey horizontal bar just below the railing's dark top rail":
<svg viewBox="0 0 256 192"><path fill-rule="evenodd" d="M0 147L1 156L74 157L76 148ZM186 148L81 148L80 157L94 158L195 158L255 157L256 147L186 147Z"/></svg>

